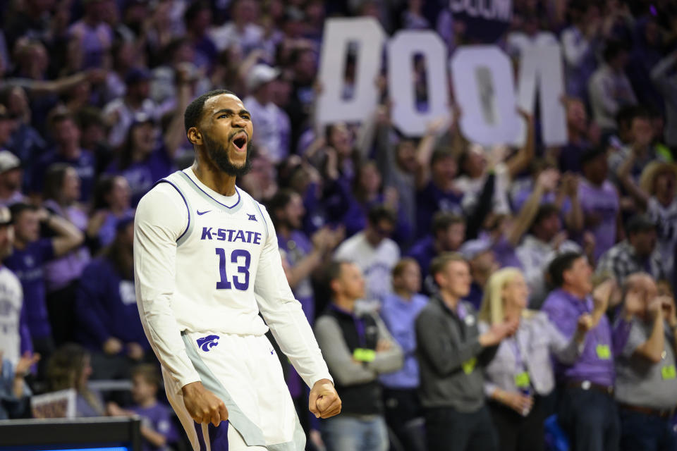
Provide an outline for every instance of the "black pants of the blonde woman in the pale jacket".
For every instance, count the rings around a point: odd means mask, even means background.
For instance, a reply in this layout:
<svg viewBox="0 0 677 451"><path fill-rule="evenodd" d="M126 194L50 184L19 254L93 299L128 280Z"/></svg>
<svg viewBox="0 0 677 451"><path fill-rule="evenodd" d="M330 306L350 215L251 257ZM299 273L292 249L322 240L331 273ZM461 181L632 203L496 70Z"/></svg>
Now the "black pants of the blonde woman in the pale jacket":
<svg viewBox="0 0 677 451"><path fill-rule="evenodd" d="M489 403L501 451L542 451L545 447L544 421L546 412L541 397L535 397L534 407L522 416L498 402Z"/></svg>

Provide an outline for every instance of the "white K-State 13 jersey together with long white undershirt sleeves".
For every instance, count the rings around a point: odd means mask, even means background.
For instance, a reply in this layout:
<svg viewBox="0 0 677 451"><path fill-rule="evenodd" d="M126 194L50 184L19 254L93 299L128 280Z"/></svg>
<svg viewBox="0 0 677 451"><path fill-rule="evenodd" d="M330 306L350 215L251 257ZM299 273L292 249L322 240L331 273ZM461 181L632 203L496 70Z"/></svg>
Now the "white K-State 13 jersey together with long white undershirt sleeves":
<svg viewBox="0 0 677 451"><path fill-rule="evenodd" d="M182 333L263 335L268 326L309 386L331 378L270 217L243 190L224 197L192 168L160 180L136 211L134 272L141 323L171 390L200 380Z"/></svg>

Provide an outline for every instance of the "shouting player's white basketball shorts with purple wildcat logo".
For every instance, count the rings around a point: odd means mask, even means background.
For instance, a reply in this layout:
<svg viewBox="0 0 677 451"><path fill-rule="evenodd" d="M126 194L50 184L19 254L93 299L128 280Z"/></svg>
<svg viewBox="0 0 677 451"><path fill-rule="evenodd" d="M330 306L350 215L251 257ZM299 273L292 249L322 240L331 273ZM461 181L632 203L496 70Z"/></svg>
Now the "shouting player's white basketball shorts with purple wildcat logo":
<svg viewBox="0 0 677 451"><path fill-rule="evenodd" d="M284 382L278 356L265 335L182 333L202 385L226 404L228 421L197 424L181 392L167 388L195 451L303 451L305 434ZM169 375L164 374L169 380Z"/></svg>

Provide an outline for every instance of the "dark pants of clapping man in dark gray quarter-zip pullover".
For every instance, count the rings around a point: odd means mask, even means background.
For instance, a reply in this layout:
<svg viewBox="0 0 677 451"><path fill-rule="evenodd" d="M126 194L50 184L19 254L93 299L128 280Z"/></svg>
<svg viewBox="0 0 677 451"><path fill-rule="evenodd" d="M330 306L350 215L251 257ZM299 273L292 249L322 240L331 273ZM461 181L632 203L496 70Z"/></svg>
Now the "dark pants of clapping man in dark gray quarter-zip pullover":
<svg viewBox="0 0 677 451"><path fill-rule="evenodd" d="M425 409L429 451L497 451L498 439L487 406L475 412L452 407Z"/></svg>

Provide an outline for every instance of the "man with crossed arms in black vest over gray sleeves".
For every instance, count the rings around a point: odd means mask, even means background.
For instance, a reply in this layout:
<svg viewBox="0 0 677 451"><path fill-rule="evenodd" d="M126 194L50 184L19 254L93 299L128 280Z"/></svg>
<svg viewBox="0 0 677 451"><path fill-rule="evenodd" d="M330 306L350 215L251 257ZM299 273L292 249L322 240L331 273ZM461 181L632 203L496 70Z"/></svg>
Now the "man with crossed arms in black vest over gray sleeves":
<svg viewBox="0 0 677 451"><path fill-rule="evenodd" d="M341 416L322 421L328 451L386 451L379 374L401 369L403 353L377 314L358 314L355 302L365 296L362 271L348 261L327 268L331 304L315 323L317 344L341 396Z"/></svg>

